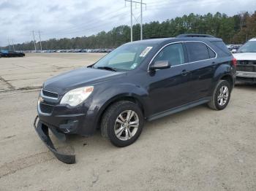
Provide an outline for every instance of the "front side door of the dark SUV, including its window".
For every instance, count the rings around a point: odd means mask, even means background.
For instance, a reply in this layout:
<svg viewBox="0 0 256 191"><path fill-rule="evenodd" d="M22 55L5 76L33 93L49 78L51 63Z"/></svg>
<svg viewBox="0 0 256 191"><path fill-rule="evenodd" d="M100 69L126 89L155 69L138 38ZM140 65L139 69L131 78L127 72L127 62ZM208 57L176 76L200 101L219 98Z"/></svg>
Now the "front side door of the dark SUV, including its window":
<svg viewBox="0 0 256 191"><path fill-rule="evenodd" d="M154 58L155 61L169 61L170 69L160 69L148 73L149 101L152 114L187 104L190 72L185 63L184 45L170 44Z"/></svg>

